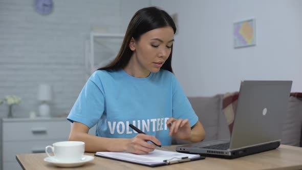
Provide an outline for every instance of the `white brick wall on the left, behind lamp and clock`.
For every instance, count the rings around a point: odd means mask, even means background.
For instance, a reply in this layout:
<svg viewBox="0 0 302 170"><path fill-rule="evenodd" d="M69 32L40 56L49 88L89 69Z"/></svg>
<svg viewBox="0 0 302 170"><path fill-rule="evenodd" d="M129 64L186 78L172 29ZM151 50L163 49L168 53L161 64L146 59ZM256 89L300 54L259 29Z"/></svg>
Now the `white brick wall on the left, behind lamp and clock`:
<svg viewBox="0 0 302 170"><path fill-rule="evenodd" d="M149 0L54 0L54 11L40 15L34 1L0 0L0 98L17 95L16 117L37 112L37 87L53 87L51 114L68 113L85 83L84 40L92 26L125 32L132 15ZM7 116L0 105L0 118Z"/></svg>

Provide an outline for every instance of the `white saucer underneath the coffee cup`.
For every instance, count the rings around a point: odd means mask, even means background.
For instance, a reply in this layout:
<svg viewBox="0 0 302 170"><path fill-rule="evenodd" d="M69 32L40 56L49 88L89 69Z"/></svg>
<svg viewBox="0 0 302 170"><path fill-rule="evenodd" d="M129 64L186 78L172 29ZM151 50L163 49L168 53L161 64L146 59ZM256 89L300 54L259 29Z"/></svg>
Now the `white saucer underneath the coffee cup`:
<svg viewBox="0 0 302 170"><path fill-rule="evenodd" d="M81 166L86 162L92 161L94 159L93 156L89 156L89 155L83 155L82 159L76 162L63 162L63 161L59 161L56 159L55 156L51 156L51 157L46 157L44 158L45 162L49 162L52 163L56 166L59 167L76 167L76 166Z"/></svg>

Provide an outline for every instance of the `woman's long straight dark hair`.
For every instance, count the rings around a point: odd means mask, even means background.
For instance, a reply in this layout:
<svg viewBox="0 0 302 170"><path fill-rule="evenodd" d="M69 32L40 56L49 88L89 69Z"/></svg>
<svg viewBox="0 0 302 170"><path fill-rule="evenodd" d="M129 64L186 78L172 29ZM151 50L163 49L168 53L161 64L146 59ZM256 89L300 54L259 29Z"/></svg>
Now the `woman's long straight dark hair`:
<svg viewBox="0 0 302 170"><path fill-rule="evenodd" d="M174 23L173 19L171 18L171 16L164 10L161 10L156 7L147 7L147 8L138 10L134 14L134 16L132 17L132 19L128 25L122 46L121 46L116 58L111 63L109 63L109 65L99 68L98 70L123 69L124 67L126 67L126 65L128 64L128 62L133 54L133 51L129 47L132 37L138 41L142 34L148 32L150 30L168 27L168 26L172 27L174 34L175 34L175 32L176 32L175 23ZM171 47L171 53L170 53L169 57L164 62L164 65L162 66L162 69L168 70L171 73L173 73L172 67L171 67L172 51L173 51L173 45Z"/></svg>

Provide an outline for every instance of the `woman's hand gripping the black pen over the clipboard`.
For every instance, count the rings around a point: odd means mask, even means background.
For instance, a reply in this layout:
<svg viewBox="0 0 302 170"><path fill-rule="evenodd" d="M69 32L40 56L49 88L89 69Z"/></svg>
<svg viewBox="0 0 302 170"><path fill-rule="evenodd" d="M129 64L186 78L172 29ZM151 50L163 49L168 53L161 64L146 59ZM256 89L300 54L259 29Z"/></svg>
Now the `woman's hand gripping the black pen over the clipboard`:
<svg viewBox="0 0 302 170"><path fill-rule="evenodd" d="M147 141L153 141L154 143L161 145L160 141L154 136L138 134L126 144L126 151L140 155L154 151L156 145Z"/></svg>

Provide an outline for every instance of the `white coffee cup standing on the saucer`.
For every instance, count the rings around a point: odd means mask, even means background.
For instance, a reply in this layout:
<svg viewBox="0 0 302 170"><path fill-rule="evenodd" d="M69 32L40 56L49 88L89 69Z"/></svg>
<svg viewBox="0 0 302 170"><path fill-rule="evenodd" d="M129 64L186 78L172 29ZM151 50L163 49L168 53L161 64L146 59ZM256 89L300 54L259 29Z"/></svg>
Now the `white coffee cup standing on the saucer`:
<svg viewBox="0 0 302 170"><path fill-rule="evenodd" d="M48 152L48 148L51 148L54 153L54 157L51 157ZM45 147L46 154L60 162L77 162L82 159L85 151L85 143L81 141L63 141L53 143L52 146Z"/></svg>

